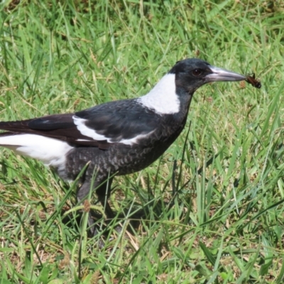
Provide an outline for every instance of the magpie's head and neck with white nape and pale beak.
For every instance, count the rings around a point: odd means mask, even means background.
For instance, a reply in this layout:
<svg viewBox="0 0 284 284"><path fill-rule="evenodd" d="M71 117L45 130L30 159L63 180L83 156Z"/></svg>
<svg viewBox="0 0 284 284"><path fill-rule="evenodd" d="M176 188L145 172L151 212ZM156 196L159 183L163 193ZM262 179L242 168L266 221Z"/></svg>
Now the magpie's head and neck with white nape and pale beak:
<svg viewBox="0 0 284 284"><path fill-rule="evenodd" d="M148 94L139 98L138 102L148 109L154 109L158 114L187 114L193 93L203 84L241 80L246 80L246 77L209 65L204 60L185 59L176 62L158 84Z"/></svg>

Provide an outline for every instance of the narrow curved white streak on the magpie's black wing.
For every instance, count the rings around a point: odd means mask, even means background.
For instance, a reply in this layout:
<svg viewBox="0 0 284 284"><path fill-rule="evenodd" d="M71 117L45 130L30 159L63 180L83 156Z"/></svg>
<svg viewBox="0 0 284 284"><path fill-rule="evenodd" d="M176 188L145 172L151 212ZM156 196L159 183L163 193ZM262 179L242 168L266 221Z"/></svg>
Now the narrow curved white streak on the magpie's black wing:
<svg viewBox="0 0 284 284"><path fill-rule="evenodd" d="M86 126L85 122L87 119L81 119L78 116L72 117L74 120L74 124L77 126L77 129L80 131L80 133L84 136L87 136L89 138L92 138L95 141L104 141L106 140L109 143L123 143L125 145L133 145L135 143L138 143L138 140L142 138L147 138L153 131L146 133L146 134L140 134L138 136L135 136L130 139L121 139L119 141L112 141L111 138L108 138L102 134L97 133L94 129L90 129L88 126ZM86 139L77 139L77 141L88 141Z"/></svg>

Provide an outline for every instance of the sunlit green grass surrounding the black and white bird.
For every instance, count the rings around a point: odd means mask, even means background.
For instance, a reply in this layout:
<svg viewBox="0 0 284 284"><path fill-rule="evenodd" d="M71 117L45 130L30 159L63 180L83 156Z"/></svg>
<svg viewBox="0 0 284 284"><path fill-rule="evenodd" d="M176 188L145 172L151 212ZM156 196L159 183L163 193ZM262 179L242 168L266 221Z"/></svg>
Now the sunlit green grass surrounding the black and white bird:
<svg viewBox="0 0 284 284"><path fill-rule="evenodd" d="M1 149L1 283L283 283L284 4L189 2L1 1L2 121L138 97L182 58L263 85L195 93L163 157L116 178L111 206L127 218L104 249L76 222L75 184Z"/></svg>

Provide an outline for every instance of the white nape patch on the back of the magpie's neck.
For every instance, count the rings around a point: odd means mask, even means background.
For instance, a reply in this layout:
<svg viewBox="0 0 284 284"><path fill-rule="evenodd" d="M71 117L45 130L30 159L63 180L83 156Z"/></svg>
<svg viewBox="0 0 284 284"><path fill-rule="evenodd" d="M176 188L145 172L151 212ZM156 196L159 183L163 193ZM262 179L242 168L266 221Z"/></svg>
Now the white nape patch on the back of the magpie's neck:
<svg viewBox="0 0 284 284"><path fill-rule="evenodd" d="M137 99L144 107L157 114L175 114L180 111L180 99L175 92L175 74L165 75L148 94Z"/></svg>

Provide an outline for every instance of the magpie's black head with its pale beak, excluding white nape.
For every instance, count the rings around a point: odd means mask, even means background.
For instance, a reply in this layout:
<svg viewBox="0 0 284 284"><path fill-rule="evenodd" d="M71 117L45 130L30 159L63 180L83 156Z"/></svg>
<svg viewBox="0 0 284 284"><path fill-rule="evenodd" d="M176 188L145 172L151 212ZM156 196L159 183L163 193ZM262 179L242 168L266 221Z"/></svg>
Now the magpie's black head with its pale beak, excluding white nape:
<svg viewBox="0 0 284 284"><path fill-rule="evenodd" d="M169 73L175 74L175 85L177 88L181 87L190 93L195 92L202 84L208 82L246 80L246 77L243 75L214 67L209 65L208 62L197 58L176 62Z"/></svg>

